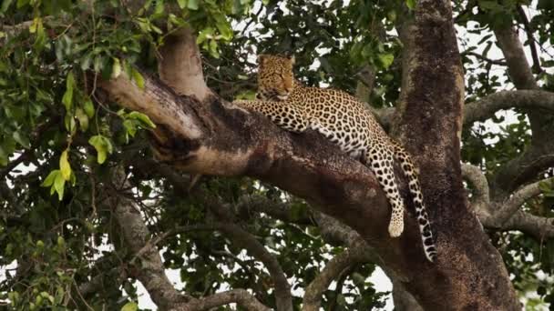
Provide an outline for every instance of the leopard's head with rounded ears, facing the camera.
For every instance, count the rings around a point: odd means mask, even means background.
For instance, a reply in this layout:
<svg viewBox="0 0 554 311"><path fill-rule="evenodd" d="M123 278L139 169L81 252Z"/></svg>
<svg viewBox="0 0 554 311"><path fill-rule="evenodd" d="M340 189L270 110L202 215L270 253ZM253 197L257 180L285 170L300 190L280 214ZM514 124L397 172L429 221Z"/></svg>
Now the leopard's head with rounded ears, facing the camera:
<svg viewBox="0 0 554 311"><path fill-rule="evenodd" d="M286 100L294 86L294 56L258 55L258 99Z"/></svg>

